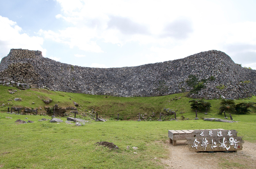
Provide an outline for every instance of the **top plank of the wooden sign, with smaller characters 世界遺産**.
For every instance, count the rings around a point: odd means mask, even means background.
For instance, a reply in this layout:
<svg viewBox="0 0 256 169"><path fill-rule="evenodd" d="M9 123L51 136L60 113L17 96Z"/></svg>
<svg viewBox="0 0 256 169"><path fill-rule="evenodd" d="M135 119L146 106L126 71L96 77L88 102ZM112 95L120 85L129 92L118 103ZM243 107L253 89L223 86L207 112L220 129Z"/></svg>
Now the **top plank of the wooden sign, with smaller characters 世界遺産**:
<svg viewBox="0 0 256 169"><path fill-rule="evenodd" d="M208 137L208 136L212 136L212 137L226 137L226 136L233 136L236 137L237 136L237 131L236 130L223 130L223 129L218 129L218 130L195 130L193 132L196 137Z"/></svg>

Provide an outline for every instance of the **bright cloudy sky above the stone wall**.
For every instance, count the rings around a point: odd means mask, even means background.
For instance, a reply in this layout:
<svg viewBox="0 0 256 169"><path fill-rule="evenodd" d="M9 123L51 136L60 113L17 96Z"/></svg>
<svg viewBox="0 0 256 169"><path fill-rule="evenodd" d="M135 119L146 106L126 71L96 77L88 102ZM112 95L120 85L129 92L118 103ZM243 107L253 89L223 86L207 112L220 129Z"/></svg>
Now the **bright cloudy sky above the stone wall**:
<svg viewBox="0 0 256 169"><path fill-rule="evenodd" d="M220 50L256 70L255 0L0 0L0 59L11 48L98 68Z"/></svg>

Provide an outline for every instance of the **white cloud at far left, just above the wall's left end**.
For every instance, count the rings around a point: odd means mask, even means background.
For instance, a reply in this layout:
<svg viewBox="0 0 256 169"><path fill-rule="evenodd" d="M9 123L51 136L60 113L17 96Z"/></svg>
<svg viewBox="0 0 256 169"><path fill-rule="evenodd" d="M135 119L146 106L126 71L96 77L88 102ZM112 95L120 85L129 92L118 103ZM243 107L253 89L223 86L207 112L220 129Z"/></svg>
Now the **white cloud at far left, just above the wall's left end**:
<svg viewBox="0 0 256 169"><path fill-rule="evenodd" d="M22 28L16 22L0 16L0 57L7 56L12 48L22 48L29 50L40 50L43 56L46 49L42 48L44 39L37 36L29 36L21 33Z"/></svg>

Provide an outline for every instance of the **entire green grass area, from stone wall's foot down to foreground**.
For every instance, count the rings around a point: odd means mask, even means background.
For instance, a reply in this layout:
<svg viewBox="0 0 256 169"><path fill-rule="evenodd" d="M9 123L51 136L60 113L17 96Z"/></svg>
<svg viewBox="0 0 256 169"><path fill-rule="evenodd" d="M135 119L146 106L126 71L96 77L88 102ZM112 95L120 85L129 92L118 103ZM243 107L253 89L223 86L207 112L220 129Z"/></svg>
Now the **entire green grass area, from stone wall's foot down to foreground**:
<svg viewBox="0 0 256 169"><path fill-rule="evenodd" d="M232 114L235 123L222 123L203 120L179 121L136 121L136 114L164 113L164 108L173 110L184 109L186 118L193 119L194 112L190 109L185 97L186 93L150 98L122 98L111 96L85 95L78 93L52 92L47 90L18 90L10 94L14 87L0 86L0 168L164 168L161 158L168 157L168 151L163 143L168 141L170 129L235 129L238 136L244 140L256 142L256 116L251 114ZM173 98L181 97L178 100ZM13 101L21 98L22 101ZM45 105L41 99L52 99L50 105ZM8 101L8 99L12 99ZM7 114L7 107L42 108L58 104L60 107L74 107L73 101L79 104L79 113L86 109L94 109L99 114L134 115L129 121L107 121L87 123L84 126L66 124L66 118L59 117L64 122L50 123L38 121L49 116ZM212 104L208 116L218 117L220 100L209 100ZM242 100L236 100L241 102ZM249 100L248 100L249 101ZM256 101L256 97L250 98ZM32 104L35 102L35 104ZM9 104L8 104L9 103ZM189 115L191 114L191 115ZM199 113L199 117L205 116ZM28 119L25 119L25 118ZM224 117L224 115L222 115ZM16 124L17 119L31 120L34 123ZM118 150L97 146L95 143L108 141L116 144ZM138 147L137 150L126 150L127 146ZM136 152L137 154L134 154ZM154 158L157 159L154 159Z"/></svg>

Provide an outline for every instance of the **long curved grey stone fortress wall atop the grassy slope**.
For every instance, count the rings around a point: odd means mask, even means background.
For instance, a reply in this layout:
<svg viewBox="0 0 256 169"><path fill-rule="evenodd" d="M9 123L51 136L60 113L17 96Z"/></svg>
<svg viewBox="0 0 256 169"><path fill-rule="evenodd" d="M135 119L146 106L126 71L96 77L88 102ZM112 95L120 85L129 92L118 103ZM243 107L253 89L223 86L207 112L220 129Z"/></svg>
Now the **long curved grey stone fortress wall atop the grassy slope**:
<svg viewBox="0 0 256 169"><path fill-rule="evenodd" d="M238 66L217 50L173 61L104 69L56 62L44 58L38 50L11 49L0 63L3 85L27 83L31 88L122 97L189 92L193 89L186 82L189 75L199 81L215 77L207 80L200 91L190 94L192 98L244 98L256 94L256 71Z"/></svg>

